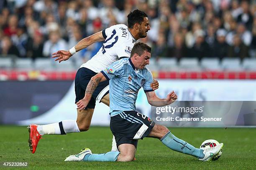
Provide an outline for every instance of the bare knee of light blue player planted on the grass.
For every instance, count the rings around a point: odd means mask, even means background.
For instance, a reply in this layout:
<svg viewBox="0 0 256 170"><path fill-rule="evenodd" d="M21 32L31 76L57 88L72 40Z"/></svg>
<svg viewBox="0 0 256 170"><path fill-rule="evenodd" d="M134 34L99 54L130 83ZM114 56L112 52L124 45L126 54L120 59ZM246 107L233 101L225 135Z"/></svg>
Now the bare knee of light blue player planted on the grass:
<svg viewBox="0 0 256 170"><path fill-rule="evenodd" d="M118 146L120 155L117 158L118 162L129 162L133 161L136 153L136 147L132 144L121 144Z"/></svg>

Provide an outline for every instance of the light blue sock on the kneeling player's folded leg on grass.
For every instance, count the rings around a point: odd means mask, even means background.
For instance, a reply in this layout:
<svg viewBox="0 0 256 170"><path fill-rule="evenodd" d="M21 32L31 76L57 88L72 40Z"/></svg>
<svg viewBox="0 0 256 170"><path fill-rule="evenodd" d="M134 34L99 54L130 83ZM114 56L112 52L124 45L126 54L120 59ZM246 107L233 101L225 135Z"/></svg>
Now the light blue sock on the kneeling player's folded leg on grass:
<svg viewBox="0 0 256 170"><path fill-rule="evenodd" d="M120 152L111 151L102 154L87 154L83 161L102 161L102 162L115 162Z"/></svg>

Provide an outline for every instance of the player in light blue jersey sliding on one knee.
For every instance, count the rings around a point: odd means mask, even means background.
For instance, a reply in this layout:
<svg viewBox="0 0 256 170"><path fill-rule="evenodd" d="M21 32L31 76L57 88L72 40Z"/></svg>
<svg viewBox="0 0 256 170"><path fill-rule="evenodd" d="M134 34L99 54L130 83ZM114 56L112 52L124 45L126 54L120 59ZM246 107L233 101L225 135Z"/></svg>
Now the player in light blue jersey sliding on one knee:
<svg viewBox="0 0 256 170"><path fill-rule="evenodd" d="M110 129L115 136L119 152L92 154L85 148L77 155L70 155L65 161L132 161L135 157L138 139L158 138L168 148L195 156L202 161L212 160L223 148L223 143L210 149L198 149L174 136L165 126L135 111L138 91L143 87L149 104L166 106L177 99L174 91L166 99L160 99L151 89L151 72L145 67L149 64L151 47L138 42L131 50L131 58L114 62L105 70L91 78L85 97L77 102L77 107L86 107L99 82L110 80Z"/></svg>

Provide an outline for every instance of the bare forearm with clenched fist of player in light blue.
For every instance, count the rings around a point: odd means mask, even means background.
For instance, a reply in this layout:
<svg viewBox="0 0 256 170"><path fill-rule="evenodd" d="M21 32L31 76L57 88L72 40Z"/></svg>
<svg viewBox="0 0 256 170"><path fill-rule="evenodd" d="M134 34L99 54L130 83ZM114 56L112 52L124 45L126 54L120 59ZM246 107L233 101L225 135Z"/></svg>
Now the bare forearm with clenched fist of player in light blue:
<svg viewBox="0 0 256 170"><path fill-rule="evenodd" d="M146 92L148 103L152 106L166 106L177 100L177 95L174 91L170 92L165 99L157 97L154 91Z"/></svg>

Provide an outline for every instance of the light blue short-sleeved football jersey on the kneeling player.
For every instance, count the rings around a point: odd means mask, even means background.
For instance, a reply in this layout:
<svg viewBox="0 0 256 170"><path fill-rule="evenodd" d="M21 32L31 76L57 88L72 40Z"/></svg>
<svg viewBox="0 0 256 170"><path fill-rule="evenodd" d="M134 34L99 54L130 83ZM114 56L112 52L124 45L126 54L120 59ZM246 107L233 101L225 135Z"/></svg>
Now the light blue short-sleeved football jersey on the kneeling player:
<svg viewBox="0 0 256 170"><path fill-rule="evenodd" d="M135 110L138 91L143 87L144 92L153 91L150 87L153 76L146 67L136 70L130 58L123 58L101 71L110 80L110 115L122 111Z"/></svg>

